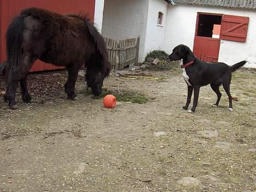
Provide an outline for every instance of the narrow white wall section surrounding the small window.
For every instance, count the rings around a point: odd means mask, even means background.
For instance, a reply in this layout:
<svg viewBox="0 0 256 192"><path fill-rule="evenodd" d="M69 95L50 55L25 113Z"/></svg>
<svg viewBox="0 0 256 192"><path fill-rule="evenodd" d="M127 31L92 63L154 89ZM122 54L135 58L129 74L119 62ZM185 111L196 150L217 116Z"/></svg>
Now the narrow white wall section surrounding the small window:
<svg viewBox="0 0 256 192"><path fill-rule="evenodd" d="M149 0L146 43L144 56L149 51L161 50L164 46L168 3L164 0ZM158 25L158 12L164 14L162 26Z"/></svg>

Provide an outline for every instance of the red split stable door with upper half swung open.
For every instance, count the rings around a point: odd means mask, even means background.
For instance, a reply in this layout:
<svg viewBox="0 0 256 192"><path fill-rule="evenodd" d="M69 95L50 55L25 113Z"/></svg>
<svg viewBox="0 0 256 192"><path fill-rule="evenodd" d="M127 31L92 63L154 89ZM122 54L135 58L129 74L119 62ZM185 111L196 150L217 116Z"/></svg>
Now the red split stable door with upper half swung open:
<svg viewBox="0 0 256 192"><path fill-rule="evenodd" d="M217 62L220 39L246 42L249 17L198 13L193 52L205 62Z"/></svg>

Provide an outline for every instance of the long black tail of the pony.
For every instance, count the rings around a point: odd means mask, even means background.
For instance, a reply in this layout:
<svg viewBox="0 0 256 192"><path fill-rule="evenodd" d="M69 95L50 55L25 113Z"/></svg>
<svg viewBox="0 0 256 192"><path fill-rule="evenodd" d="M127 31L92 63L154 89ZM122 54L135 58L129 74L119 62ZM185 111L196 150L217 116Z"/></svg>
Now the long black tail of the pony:
<svg viewBox="0 0 256 192"><path fill-rule="evenodd" d="M24 16L19 16L10 23L5 34L7 63L9 64L8 83L12 82L14 70L19 70L21 64L23 29Z"/></svg>

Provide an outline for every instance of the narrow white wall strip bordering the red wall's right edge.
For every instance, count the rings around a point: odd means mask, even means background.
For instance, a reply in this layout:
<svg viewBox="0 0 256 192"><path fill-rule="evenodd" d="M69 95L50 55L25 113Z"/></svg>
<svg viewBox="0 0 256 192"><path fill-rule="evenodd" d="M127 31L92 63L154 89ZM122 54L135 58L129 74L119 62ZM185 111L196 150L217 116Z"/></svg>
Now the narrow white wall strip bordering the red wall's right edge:
<svg viewBox="0 0 256 192"><path fill-rule="evenodd" d="M100 32L102 30L103 9L104 9L104 0L96 0L95 11L94 11L94 23Z"/></svg>

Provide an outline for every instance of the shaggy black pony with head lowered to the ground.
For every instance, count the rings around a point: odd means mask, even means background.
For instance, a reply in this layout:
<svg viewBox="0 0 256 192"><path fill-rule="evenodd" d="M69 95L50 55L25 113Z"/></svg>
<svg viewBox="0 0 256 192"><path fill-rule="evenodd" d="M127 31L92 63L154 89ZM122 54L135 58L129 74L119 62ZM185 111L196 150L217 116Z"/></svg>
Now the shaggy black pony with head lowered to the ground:
<svg viewBox="0 0 256 192"><path fill-rule="evenodd" d="M110 65L101 34L86 15L60 15L49 10L28 8L10 23L7 34L7 92L11 109L18 109L15 92L20 81L22 99L30 102L27 91L28 70L40 59L68 70L65 92L77 100L74 92L78 70L86 67L86 82L94 95L102 92Z"/></svg>

